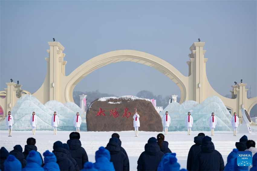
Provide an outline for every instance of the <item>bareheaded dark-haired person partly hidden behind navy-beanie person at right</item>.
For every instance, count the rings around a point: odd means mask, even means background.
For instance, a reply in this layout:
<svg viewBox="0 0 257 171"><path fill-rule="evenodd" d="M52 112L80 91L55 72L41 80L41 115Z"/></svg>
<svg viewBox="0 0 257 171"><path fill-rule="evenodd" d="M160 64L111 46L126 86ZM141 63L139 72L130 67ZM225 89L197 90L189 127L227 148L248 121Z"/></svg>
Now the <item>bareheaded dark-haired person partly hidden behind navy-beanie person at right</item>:
<svg viewBox="0 0 257 171"><path fill-rule="evenodd" d="M197 137L194 137L194 145L190 148L187 155L187 170L191 171L194 164L194 159L197 153L201 151L202 139L205 136L203 133L199 133Z"/></svg>

